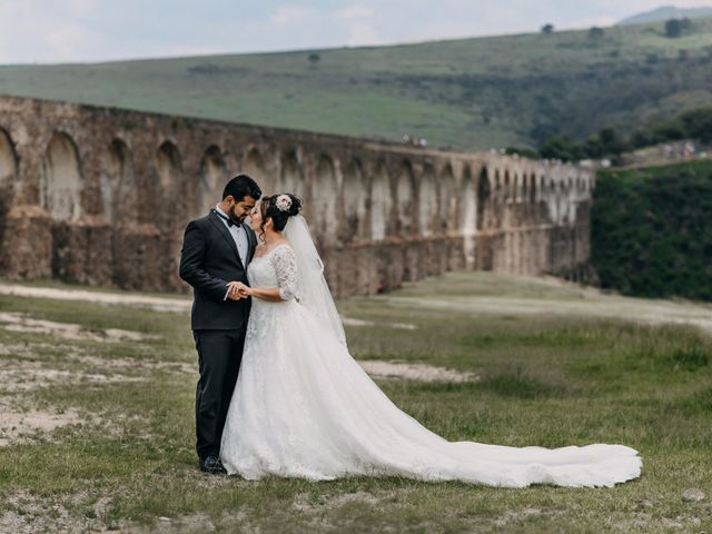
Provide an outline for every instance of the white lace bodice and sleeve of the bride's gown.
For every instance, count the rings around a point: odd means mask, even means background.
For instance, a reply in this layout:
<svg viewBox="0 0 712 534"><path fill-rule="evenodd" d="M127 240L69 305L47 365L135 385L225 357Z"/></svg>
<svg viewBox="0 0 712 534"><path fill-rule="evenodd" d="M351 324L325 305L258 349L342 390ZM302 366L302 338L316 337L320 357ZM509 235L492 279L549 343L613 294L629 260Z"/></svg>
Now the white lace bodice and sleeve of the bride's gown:
<svg viewBox="0 0 712 534"><path fill-rule="evenodd" d="M253 287L278 287L283 300L297 298L297 258L291 246L284 243L254 258L247 267L247 278Z"/></svg>

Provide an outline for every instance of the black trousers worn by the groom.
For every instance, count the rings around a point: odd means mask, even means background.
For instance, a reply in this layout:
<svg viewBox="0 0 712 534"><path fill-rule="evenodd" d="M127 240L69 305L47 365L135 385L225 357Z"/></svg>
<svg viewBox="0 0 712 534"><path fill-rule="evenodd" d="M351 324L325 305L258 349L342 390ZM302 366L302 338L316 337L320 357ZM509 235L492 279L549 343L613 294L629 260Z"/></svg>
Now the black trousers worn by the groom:
<svg viewBox="0 0 712 534"><path fill-rule="evenodd" d="M196 387L196 451L205 459L220 453L220 439L243 360L245 328L192 330L200 378Z"/></svg>

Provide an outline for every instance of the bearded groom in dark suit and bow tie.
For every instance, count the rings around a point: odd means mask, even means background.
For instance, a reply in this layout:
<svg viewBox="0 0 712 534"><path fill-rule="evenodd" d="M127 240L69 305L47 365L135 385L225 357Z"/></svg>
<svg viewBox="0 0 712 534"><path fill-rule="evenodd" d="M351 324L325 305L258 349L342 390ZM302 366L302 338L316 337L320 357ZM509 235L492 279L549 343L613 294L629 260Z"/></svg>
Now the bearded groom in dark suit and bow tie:
<svg viewBox="0 0 712 534"><path fill-rule="evenodd" d="M230 283L247 285L257 239L245 224L261 191L239 175L228 181L222 201L186 228L180 278L192 286L190 316L198 349L200 379L196 388L196 434L200 469L225 473L220 438L243 359L250 301Z"/></svg>

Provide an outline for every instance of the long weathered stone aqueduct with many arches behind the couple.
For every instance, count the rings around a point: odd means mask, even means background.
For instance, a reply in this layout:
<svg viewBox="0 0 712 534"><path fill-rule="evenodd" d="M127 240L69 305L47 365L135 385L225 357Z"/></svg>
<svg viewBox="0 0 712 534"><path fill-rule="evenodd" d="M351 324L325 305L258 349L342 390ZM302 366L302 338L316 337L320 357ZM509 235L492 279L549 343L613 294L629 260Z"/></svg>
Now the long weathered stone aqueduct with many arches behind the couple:
<svg viewBox="0 0 712 534"><path fill-rule="evenodd" d="M587 169L0 97L0 276L186 290L185 225L237 171L305 199L342 296L451 269L575 273L589 259Z"/></svg>

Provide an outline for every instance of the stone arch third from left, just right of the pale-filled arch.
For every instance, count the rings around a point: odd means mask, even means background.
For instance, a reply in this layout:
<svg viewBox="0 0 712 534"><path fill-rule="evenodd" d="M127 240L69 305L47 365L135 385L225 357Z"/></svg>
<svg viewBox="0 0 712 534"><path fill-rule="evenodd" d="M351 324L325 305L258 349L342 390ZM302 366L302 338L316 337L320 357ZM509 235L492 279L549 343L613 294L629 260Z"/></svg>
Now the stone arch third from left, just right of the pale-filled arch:
<svg viewBox="0 0 712 534"><path fill-rule="evenodd" d="M129 148L122 139L113 139L105 152L100 188L103 215L109 222L138 221L138 187Z"/></svg>

